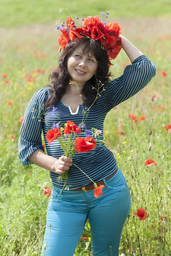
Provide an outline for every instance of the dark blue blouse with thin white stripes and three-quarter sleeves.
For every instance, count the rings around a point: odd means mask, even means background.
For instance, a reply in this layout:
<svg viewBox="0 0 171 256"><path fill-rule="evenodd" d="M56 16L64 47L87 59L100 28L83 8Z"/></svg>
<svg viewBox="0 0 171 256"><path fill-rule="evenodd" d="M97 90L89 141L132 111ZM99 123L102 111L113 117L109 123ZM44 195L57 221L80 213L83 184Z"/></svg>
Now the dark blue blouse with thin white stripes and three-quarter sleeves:
<svg viewBox="0 0 171 256"><path fill-rule="evenodd" d="M145 55L136 58L131 65L125 68L122 76L104 86L105 90L101 93L101 97L97 99L97 104L93 105L89 110L85 121L86 129L91 130L91 128L96 128L101 130L100 140L103 140L103 125L107 112L139 92L139 90L149 83L155 74L156 67ZM46 133L52 128L54 122L60 122L62 127L64 127L63 124L67 120L73 121L76 125L82 122L82 111L83 108L86 108L86 104L83 103L78 107L76 113L72 113L71 109L65 106L60 100L55 105L55 108L57 108L55 115L52 115L52 107L44 109L43 113L43 103L48 96L49 87L38 89L26 108L19 136L19 158L23 166L32 164L28 158L38 148L44 151L41 139L42 131L47 154L55 158L64 155L64 151L61 149L60 143L57 140L49 145L46 140ZM43 114L43 122L40 118L36 118L33 109L37 113ZM113 153L99 142L97 142L95 149L88 153L76 153L72 157L72 160L94 182L111 175L117 169L117 163ZM73 165L70 167L67 180L70 189L88 186L92 183L83 172ZM58 176L58 174L50 172L53 186L62 189L64 184L57 183L56 178Z"/></svg>

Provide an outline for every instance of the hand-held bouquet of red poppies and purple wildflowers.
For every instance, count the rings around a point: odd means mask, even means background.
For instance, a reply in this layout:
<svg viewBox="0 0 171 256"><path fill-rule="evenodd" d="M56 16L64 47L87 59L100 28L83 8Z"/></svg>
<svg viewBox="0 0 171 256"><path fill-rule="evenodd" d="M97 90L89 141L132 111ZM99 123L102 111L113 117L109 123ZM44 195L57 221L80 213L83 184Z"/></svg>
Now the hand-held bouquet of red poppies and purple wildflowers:
<svg viewBox="0 0 171 256"><path fill-rule="evenodd" d="M76 134L80 134L80 135L82 134L82 136L76 137L77 136ZM101 130L98 130L95 128L92 128L91 130L86 130L86 125L84 123L81 123L79 126L77 126L74 124L74 122L68 120L67 123L64 125L64 127L60 127L59 125L56 125L55 129L50 129L46 133L46 140L48 142L48 145L52 141L58 140L58 142L61 144L61 148L64 150L65 156L72 158L77 152L78 153L90 152L91 149L95 149L97 139L93 139L93 137L95 138L99 137L100 134L101 134ZM101 140L99 140L99 142L104 143ZM75 165L74 163L72 164ZM83 172L78 166L76 167L81 172ZM65 186L67 184L68 172L69 171L65 171L62 175L59 175L59 177L57 178L57 182L60 183L61 181L64 180L64 186ZM88 177L88 175L86 176ZM92 179L90 180L93 182ZM98 188L96 183L95 182L93 183L95 188ZM102 190L103 187L104 186L100 186L100 189ZM99 188L98 188L98 191L99 191ZM95 192L95 196L96 195L97 195L97 192Z"/></svg>

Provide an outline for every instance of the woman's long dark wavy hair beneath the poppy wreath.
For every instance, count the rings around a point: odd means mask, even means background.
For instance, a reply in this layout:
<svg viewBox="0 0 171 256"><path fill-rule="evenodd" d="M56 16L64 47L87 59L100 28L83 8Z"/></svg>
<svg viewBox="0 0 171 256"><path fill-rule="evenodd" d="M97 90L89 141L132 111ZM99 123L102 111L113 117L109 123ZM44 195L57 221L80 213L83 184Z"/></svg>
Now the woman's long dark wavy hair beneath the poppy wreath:
<svg viewBox="0 0 171 256"><path fill-rule="evenodd" d="M84 45L83 54L88 54L89 52L96 58L98 61L98 67L96 75L88 80L83 87L82 92L83 101L87 105L92 105L97 96L97 90L93 89L95 87L98 89L98 82L101 81L101 84L107 84L110 79L111 73L109 73L109 58L107 52L102 48L99 41L93 40L92 38L79 38L67 43L65 49L61 52L58 59L58 67L51 71L49 74L49 84L50 95L44 104L44 108L52 107L56 105L62 96L66 93L67 85L71 81L70 74L67 70L67 61L68 58L75 51L75 48ZM93 86L93 87L92 87ZM101 87L99 93L103 90ZM96 101L95 101L96 104Z"/></svg>

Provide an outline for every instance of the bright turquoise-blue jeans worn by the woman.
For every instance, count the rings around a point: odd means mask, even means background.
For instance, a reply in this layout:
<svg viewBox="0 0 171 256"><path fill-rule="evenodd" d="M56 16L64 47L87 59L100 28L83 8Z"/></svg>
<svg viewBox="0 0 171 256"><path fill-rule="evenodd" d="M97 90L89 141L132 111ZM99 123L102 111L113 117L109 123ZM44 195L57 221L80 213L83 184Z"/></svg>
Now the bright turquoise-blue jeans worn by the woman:
<svg viewBox="0 0 171 256"><path fill-rule="evenodd" d="M111 256L110 247L112 256L119 255L121 233L131 206L130 192L120 169L104 180L104 185L99 198L94 197L94 190L63 190L59 196L61 190L52 189L41 256L73 256L87 219L93 256Z"/></svg>

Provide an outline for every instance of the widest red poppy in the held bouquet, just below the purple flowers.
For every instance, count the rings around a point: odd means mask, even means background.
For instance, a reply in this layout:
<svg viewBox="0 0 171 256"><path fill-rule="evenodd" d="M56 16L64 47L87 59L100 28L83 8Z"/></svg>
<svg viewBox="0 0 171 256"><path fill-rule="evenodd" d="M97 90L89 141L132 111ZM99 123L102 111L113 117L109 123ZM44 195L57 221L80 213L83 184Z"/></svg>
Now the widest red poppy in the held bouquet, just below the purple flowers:
<svg viewBox="0 0 171 256"><path fill-rule="evenodd" d="M75 145L75 150L78 153L90 152L91 149L96 148L96 141L90 136L85 137L85 139L81 137L77 137L75 139L74 145Z"/></svg>

